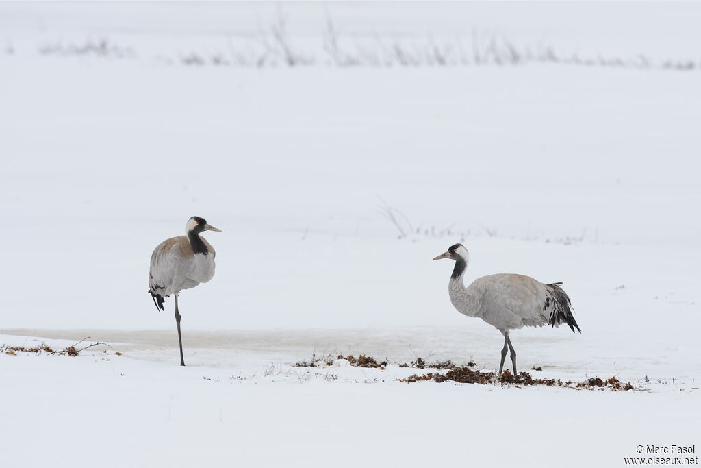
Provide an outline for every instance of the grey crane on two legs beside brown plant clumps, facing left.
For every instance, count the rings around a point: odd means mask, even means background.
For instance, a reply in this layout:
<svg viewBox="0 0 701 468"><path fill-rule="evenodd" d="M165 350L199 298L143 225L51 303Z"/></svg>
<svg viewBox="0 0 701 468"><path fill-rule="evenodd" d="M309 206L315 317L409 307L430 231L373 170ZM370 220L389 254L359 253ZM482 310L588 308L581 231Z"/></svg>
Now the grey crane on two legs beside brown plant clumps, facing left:
<svg viewBox="0 0 701 468"><path fill-rule="evenodd" d="M507 347L516 373L516 352L509 333L524 326L538 327L550 324L554 327L566 323L574 332L581 333L574 319L571 301L560 287L562 283L543 284L522 274L490 274L472 281L465 288L463 275L470 261L470 254L463 244L456 243L447 252L433 260L455 260L453 274L448 283L450 302L458 312L468 317L479 317L504 335L499 373L504 368Z"/></svg>

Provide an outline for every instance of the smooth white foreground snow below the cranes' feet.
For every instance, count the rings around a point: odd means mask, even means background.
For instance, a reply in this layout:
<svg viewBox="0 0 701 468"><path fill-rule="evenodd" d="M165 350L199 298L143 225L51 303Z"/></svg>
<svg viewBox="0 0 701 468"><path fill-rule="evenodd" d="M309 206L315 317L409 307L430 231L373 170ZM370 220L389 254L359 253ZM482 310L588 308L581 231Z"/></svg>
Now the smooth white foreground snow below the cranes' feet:
<svg viewBox="0 0 701 468"><path fill-rule="evenodd" d="M648 392L404 384L393 379L416 369L290 368L294 354L282 349L275 361L238 352L222 363L219 351L190 347L198 363L186 368L112 353L2 356L0 396L12 404L1 410L0 446L11 466L418 466L437 457L498 466L519 457L583 467L593 456L618 463L639 443L693 443L697 424L688 381ZM27 450L37 437L42 450Z"/></svg>

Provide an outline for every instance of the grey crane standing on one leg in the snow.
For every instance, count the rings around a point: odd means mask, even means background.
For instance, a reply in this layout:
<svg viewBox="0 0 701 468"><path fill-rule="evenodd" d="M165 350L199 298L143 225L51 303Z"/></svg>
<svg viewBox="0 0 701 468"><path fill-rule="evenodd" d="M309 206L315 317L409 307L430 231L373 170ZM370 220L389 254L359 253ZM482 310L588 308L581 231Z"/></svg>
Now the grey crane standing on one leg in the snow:
<svg viewBox="0 0 701 468"><path fill-rule="evenodd" d="M166 239L151 254L149 294L158 312L165 310L164 297L175 294L175 323L181 366L185 365L185 361L182 356L181 316L177 308L177 296L181 290L194 288L215 276L215 249L206 239L200 237L200 232L203 231L222 232L221 229L208 225L203 218L193 216L185 225L185 236Z"/></svg>

